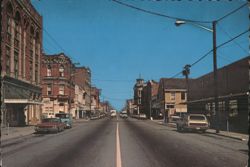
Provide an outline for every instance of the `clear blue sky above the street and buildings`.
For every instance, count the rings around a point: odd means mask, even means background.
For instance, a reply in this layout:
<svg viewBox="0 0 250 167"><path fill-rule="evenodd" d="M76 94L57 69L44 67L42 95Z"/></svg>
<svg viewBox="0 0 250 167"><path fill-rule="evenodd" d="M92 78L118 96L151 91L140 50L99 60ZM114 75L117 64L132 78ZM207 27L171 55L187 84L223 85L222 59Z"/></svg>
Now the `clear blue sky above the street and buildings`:
<svg viewBox="0 0 250 167"><path fill-rule="evenodd" d="M217 20L246 1L119 0L174 18L196 20L212 27ZM133 98L133 86L173 77L212 49L212 33L193 24L175 26L175 19L145 13L112 0L31 0L43 16L43 50L64 52L74 63L90 67L92 84L101 100L116 109ZM217 46L249 28L244 6L216 24ZM217 50L218 68L249 55L249 32ZM213 70L212 54L191 68L197 78ZM178 75L178 78L183 78Z"/></svg>

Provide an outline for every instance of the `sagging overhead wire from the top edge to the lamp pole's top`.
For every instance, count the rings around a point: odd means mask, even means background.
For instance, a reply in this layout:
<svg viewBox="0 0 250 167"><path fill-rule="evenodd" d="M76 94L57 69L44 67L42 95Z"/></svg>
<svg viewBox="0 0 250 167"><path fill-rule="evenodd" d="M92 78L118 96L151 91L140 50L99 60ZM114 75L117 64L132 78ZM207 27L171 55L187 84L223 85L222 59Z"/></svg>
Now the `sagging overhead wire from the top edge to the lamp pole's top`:
<svg viewBox="0 0 250 167"><path fill-rule="evenodd" d="M174 16L168 16L168 15L165 15L165 14L162 14L162 13L158 13L158 12L153 12L153 11L150 11L150 10L142 9L142 8L133 6L131 4L118 1L118 0L112 0L112 1L115 2L115 3L118 3L120 5L129 7L129 8L132 8L132 9L144 12L144 13L149 13L149 14L152 14L152 15L156 15L156 16L160 16L160 17L165 17L165 18L172 19L172 20L183 20L183 21L195 22L195 23L211 23L212 22L212 21L189 20L189 19L183 19L183 18L178 18L178 17L174 17Z"/></svg>

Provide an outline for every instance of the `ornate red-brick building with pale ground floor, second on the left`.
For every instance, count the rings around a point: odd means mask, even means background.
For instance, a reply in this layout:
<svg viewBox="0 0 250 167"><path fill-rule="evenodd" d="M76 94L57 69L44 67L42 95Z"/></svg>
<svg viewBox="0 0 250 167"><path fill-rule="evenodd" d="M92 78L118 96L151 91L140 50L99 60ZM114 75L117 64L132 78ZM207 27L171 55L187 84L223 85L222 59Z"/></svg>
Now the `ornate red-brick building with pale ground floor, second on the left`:
<svg viewBox="0 0 250 167"><path fill-rule="evenodd" d="M45 117L56 113L71 113L74 116L74 65L64 53L43 55L41 63L42 112Z"/></svg>

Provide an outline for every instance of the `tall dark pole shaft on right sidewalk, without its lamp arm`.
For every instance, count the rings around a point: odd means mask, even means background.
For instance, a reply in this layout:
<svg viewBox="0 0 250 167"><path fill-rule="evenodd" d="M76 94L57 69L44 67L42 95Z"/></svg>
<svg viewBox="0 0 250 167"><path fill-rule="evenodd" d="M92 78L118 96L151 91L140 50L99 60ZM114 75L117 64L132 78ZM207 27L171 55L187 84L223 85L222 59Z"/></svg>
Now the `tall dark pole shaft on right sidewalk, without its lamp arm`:
<svg viewBox="0 0 250 167"><path fill-rule="evenodd" d="M213 21L213 67L214 67L214 103L216 114L216 133L220 132L220 113L218 107L218 75L217 75L217 48L216 48L216 21Z"/></svg>

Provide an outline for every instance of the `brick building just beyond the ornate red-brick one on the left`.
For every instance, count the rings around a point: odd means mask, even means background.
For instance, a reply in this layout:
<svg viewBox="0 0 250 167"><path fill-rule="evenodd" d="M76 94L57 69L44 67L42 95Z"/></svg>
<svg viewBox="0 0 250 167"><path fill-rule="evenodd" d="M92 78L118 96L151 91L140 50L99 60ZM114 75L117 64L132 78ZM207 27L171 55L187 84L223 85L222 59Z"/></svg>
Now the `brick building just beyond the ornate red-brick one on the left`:
<svg viewBox="0 0 250 167"><path fill-rule="evenodd" d="M91 70L88 67L75 68L75 84L84 91L83 103L76 109L78 118L90 115L90 89L91 89Z"/></svg>

